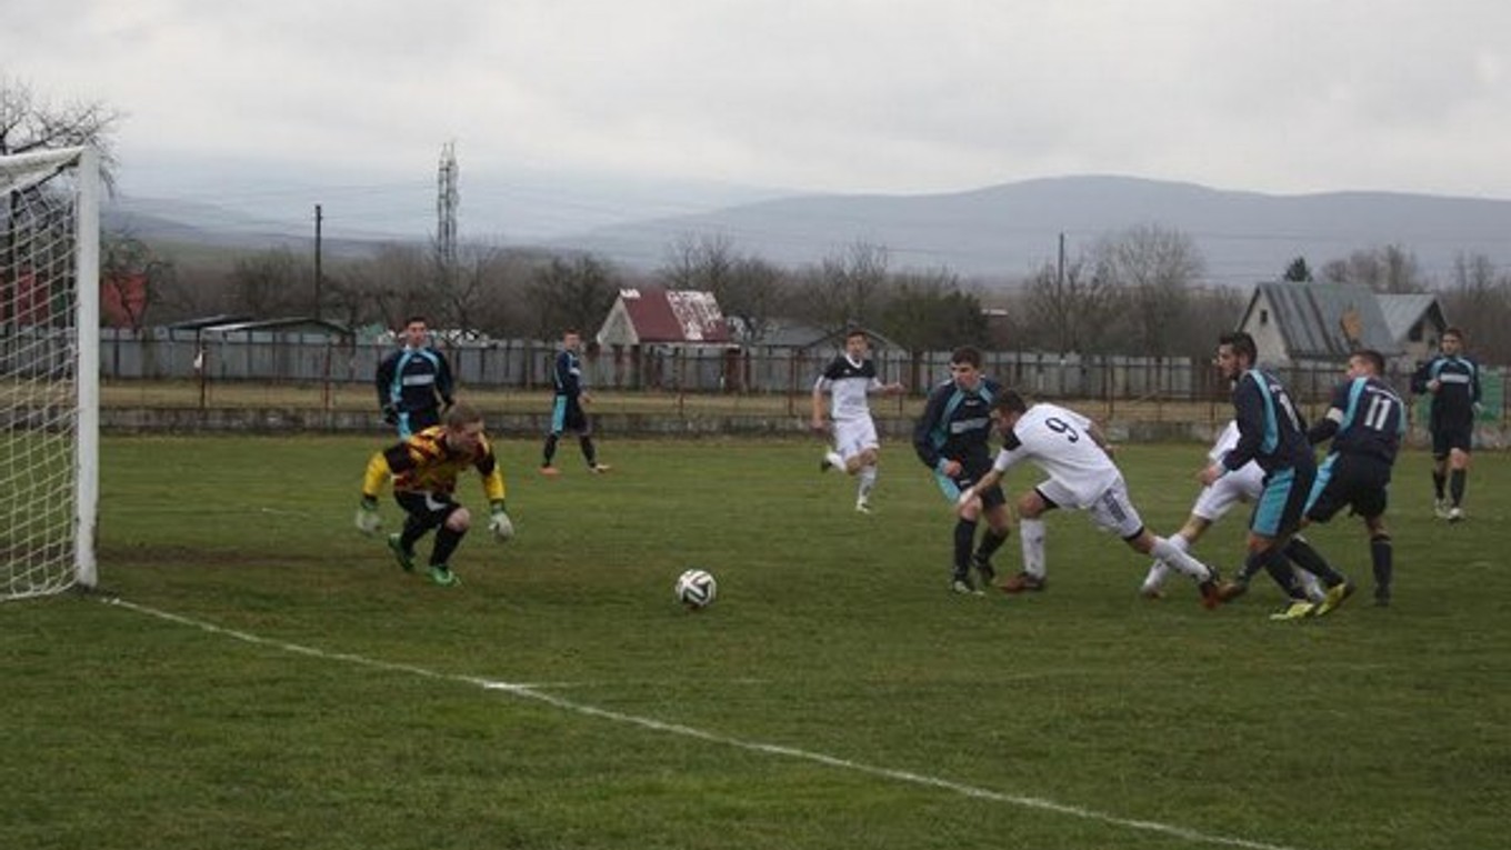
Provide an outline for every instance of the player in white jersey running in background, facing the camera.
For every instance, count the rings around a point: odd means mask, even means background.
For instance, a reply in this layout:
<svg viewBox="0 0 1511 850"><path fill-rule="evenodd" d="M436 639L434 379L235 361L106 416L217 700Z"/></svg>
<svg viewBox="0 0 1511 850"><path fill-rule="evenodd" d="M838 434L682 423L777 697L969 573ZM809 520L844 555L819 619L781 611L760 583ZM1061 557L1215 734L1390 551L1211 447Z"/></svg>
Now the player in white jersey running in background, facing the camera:
<svg viewBox="0 0 1511 850"><path fill-rule="evenodd" d="M876 460L881 440L870 417L870 393L901 393L902 384L884 384L876 377L876 363L866 357L870 340L866 331L845 334L845 352L830 361L813 381L813 430L825 431L823 395L830 395L830 419L834 420L834 448L819 461L820 470L843 469L857 475L855 510L870 513L870 492L876 487Z"/></svg>

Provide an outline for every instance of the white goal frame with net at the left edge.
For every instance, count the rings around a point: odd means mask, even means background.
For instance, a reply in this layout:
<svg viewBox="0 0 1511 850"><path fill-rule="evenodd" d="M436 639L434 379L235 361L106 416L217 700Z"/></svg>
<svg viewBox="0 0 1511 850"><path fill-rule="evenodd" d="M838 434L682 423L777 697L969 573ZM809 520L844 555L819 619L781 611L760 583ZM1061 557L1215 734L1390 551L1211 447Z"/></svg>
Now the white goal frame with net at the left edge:
<svg viewBox="0 0 1511 850"><path fill-rule="evenodd" d="M100 180L88 148L0 156L0 600L95 585Z"/></svg>

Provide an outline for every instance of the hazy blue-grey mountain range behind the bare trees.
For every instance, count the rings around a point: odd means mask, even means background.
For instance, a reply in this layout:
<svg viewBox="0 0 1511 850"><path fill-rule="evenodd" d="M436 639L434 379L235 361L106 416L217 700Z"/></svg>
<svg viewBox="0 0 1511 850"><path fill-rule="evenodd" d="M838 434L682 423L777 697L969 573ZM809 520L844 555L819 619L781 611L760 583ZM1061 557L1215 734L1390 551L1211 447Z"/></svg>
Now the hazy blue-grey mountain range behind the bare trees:
<svg viewBox="0 0 1511 850"><path fill-rule="evenodd" d="M867 244L885 248L893 269L944 268L966 278L1011 281L1053 263L1061 234L1074 259L1100 236L1136 225L1189 236L1206 260L1207 280L1225 286L1274 280L1295 257L1316 269L1387 245L1414 254L1422 272L1441 284L1451 283L1460 256L1482 254L1499 269L1511 269L1511 201L1393 192L1263 195L1097 175L938 195L795 195L529 242L505 233L502 244L589 251L639 269L662 265L671 247L689 237L724 239L739 254L783 266L816 263ZM237 210L128 197L107 206L107 227L150 242L234 248L308 245L313 236L313 228L258 225L255 216ZM405 236L375 230L346 233L328 245L348 254L396 239Z"/></svg>

